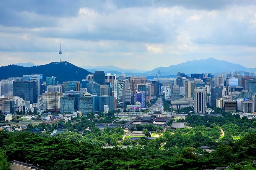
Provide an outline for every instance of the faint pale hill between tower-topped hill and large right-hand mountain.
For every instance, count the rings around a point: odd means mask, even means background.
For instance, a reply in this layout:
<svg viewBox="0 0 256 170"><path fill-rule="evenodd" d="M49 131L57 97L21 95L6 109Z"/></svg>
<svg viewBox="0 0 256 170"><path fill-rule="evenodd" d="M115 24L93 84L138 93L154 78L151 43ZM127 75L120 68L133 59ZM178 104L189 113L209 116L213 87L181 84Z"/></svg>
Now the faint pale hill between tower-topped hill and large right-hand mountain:
<svg viewBox="0 0 256 170"><path fill-rule="evenodd" d="M122 69L120 67L116 66L82 66L84 69L95 69L98 71L104 71L104 72L109 72L109 71L117 71L117 72L129 72L129 73L143 73L145 70L138 70L138 69Z"/></svg>

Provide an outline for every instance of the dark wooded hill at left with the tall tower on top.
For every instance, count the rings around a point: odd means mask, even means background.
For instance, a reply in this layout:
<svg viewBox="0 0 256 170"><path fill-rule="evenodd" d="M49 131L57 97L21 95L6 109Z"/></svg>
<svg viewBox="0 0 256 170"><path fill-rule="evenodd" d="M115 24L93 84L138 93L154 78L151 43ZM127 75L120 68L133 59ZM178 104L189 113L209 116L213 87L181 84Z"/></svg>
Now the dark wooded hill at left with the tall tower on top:
<svg viewBox="0 0 256 170"><path fill-rule="evenodd" d="M53 62L41 66L23 67L17 65L8 65L0 67L0 79L8 77L23 77L29 74L43 74L43 81L46 77L54 75L60 82L74 80L80 81L86 79L88 74L92 74L85 69L77 67L67 61Z"/></svg>

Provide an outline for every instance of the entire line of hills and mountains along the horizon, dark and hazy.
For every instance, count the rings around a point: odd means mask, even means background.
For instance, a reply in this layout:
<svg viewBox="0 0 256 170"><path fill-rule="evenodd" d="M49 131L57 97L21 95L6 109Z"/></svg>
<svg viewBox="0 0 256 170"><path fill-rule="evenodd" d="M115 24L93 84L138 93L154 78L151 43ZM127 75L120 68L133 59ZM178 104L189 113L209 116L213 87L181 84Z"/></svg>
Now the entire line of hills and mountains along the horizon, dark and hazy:
<svg viewBox="0 0 256 170"><path fill-rule="evenodd" d="M160 70L161 77L173 77L177 72L184 72L185 74L191 73L218 73L228 71L256 71L256 68L248 68L240 64L230 63L228 61L218 60L214 58L200 59L187 61L185 63L171 65L169 67L157 67L151 71L144 71L139 69L122 69L116 66L82 66L77 67L66 61L54 62L41 66L23 67L28 65L35 65L33 63L17 63L17 65L8 65L0 67L0 79L7 79L8 77L21 77L25 74L43 74L44 79L46 76L54 75L58 77L59 81L67 80L82 80L86 79L87 74L95 71L104 71L105 73L121 75L124 72L127 76L147 76L148 78L154 77L154 74ZM87 70L85 70L87 69Z"/></svg>

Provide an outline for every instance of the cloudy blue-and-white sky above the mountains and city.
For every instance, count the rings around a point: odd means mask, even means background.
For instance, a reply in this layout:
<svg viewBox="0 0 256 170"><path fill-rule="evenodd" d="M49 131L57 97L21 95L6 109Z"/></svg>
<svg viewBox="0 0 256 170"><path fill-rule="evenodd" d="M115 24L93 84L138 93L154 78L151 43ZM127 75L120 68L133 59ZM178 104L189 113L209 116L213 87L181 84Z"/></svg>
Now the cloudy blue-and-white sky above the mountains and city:
<svg viewBox="0 0 256 170"><path fill-rule="evenodd" d="M255 0L0 0L0 66L152 70L215 58L256 67Z"/></svg>

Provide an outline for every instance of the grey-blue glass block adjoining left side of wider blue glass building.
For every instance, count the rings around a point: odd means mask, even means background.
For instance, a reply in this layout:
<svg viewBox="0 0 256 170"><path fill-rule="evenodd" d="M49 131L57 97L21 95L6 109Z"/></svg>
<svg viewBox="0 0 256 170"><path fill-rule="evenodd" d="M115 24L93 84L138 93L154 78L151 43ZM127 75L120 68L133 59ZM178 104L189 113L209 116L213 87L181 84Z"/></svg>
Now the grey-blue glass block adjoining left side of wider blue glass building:
<svg viewBox="0 0 256 170"><path fill-rule="evenodd" d="M78 111L83 115L93 112L93 96L83 96L78 98Z"/></svg>

